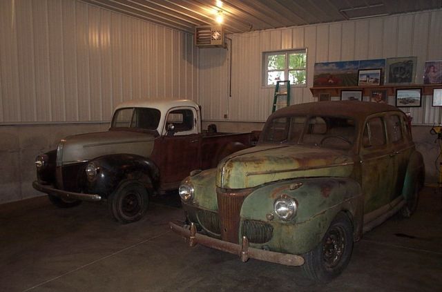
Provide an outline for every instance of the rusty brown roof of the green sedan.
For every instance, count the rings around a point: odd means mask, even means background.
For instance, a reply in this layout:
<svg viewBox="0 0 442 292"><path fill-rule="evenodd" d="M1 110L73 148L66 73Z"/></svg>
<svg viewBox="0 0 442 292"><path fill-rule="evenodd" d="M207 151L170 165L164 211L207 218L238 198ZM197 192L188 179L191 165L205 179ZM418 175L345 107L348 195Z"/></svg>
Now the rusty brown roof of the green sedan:
<svg viewBox="0 0 442 292"><path fill-rule="evenodd" d="M306 104L296 104L281 108L273 113L270 117L287 117L290 115L327 115L339 117L352 117L354 119L365 119L368 115L395 111L403 113L396 106L389 104L378 104L376 102L367 101L316 101ZM270 118L269 117L269 118Z"/></svg>

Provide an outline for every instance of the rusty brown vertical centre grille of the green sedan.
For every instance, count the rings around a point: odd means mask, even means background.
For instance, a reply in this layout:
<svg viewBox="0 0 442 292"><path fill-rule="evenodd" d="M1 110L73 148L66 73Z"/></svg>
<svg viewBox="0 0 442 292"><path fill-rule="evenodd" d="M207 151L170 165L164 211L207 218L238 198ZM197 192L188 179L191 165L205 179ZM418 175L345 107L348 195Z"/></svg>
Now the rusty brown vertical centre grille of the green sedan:
<svg viewBox="0 0 442 292"><path fill-rule="evenodd" d="M222 191L220 188L217 189L222 240L238 244L242 202L252 191L252 189L247 188L229 193Z"/></svg>

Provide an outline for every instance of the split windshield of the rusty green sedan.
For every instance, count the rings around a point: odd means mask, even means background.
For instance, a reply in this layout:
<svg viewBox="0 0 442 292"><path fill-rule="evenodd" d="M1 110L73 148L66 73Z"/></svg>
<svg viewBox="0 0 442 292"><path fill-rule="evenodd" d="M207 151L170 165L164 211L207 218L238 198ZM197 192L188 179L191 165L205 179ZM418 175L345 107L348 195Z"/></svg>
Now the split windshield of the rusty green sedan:
<svg viewBox="0 0 442 292"><path fill-rule="evenodd" d="M270 121L262 141L349 149L355 136L354 119L320 115L293 116Z"/></svg>

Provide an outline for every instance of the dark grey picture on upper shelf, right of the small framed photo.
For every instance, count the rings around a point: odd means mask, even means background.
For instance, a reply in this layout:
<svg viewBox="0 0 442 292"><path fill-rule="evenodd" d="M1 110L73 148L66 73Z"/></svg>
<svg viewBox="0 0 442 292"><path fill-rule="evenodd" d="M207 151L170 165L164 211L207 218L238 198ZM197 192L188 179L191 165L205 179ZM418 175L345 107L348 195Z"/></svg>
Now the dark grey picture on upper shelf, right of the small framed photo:
<svg viewBox="0 0 442 292"><path fill-rule="evenodd" d="M387 59L387 84L412 84L416 76L417 57Z"/></svg>

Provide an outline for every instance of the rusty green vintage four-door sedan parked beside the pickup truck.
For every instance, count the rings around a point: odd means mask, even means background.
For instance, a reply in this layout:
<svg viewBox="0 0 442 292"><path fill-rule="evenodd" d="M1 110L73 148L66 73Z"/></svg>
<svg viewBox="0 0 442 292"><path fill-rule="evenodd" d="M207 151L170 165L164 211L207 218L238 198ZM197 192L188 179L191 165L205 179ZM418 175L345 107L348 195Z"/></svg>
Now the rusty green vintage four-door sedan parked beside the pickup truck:
<svg viewBox="0 0 442 292"><path fill-rule="evenodd" d="M184 179L186 221L170 226L191 246L302 266L312 280L332 280L363 232L416 210L424 166L408 121L398 108L373 102L280 109L256 147Z"/></svg>

